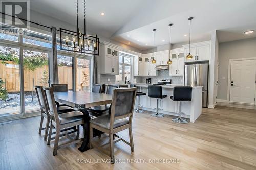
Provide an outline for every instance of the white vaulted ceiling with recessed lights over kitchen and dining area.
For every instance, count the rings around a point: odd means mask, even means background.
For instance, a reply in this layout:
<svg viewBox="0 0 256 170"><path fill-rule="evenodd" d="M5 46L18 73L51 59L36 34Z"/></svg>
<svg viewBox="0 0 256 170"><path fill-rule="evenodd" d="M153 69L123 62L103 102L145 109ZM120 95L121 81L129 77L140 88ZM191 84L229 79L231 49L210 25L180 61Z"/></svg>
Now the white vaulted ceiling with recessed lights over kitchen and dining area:
<svg viewBox="0 0 256 170"><path fill-rule="evenodd" d="M33 0L30 4L32 10L76 24L75 0ZM256 37L256 32L243 34L256 30L255 0L87 0L86 15L87 30L140 50L152 48L152 29L157 29L155 45L167 44L169 23L173 23L172 43L188 42L188 17L194 17L191 41L210 39L213 30L219 42ZM79 16L82 23L82 0Z"/></svg>

